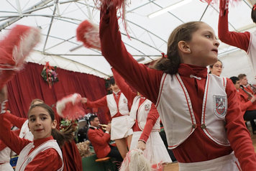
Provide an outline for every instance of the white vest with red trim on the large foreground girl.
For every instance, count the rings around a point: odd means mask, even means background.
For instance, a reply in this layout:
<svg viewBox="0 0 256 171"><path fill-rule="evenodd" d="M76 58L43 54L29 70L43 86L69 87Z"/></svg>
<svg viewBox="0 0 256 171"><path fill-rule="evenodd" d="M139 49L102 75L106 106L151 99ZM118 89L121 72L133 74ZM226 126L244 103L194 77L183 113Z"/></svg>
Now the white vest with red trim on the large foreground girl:
<svg viewBox="0 0 256 171"><path fill-rule="evenodd" d="M197 126L199 123L196 123L193 114L191 98L180 75L163 74L156 106L165 126L170 149L178 147L195 129L203 129L204 133L216 144L229 146L225 129L226 86L226 78L211 74L207 76L201 126Z"/></svg>

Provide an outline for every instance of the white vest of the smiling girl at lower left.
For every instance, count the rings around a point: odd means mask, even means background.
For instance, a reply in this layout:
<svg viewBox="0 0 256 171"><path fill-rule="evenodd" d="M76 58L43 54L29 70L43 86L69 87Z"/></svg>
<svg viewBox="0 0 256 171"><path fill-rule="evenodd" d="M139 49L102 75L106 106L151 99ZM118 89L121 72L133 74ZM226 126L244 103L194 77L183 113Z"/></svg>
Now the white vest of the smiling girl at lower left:
<svg viewBox="0 0 256 171"><path fill-rule="evenodd" d="M63 161L63 154L55 139L50 139L47 142L40 144L40 146L37 147L37 149L34 149L34 151L29 154L30 150L33 147L34 147L33 142L30 142L29 144L27 144L27 146L24 147L24 149L22 149L22 151L19 153L19 158L18 158L15 170L18 170L18 171L25 170L26 166L29 164L29 162L31 162L37 156L37 154L50 148L55 149L60 155L61 160ZM52 162L55 162L55 161L52 161ZM63 170L63 165L62 167L60 167L60 169L58 169L58 171Z"/></svg>

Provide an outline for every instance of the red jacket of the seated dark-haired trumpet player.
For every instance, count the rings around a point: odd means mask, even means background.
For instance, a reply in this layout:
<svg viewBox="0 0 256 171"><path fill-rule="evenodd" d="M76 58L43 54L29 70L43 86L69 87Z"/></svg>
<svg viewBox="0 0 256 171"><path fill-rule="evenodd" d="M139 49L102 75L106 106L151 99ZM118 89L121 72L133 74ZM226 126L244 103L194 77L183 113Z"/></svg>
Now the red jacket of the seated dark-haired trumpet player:
<svg viewBox="0 0 256 171"><path fill-rule="evenodd" d="M104 133L101 129L90 127L88 130L88 139L93 145L98 158L106 157L110 152L109 140L110 134Z"/></svg>

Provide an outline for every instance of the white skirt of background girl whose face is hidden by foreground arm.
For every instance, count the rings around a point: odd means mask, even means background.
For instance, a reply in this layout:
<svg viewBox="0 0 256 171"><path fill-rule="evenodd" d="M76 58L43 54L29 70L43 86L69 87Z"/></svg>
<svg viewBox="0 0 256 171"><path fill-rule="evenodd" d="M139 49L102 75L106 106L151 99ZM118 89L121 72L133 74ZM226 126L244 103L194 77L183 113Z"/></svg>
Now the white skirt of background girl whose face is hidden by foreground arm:
<svg viewBox="0 0 256 171"><path fill-rule="evenodd" d="M141 134L142 131L133 132L130 150L137 149L138 140L140 139ZM143 151L143 154L147 160L150 160L151 164L172 162L158 131L151 131L150 137L147 139L146 149Z"/></svg>

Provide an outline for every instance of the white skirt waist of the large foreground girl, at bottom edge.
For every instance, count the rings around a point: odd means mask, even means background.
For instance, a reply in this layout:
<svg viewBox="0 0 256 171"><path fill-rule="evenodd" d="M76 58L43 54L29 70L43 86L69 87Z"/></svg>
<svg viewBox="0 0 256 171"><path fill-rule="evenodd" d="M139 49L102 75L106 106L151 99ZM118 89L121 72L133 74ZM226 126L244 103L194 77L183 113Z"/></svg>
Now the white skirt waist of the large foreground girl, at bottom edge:
<svg viewBox="0 0 256 171"><path fill-rule="evenodd" d="M229 155L216 158L214 160L207 160L204 162L190 162L190 163L178 163L180 171L239 171L240 168L237 158L234 156L234 152Z"/></svg>

